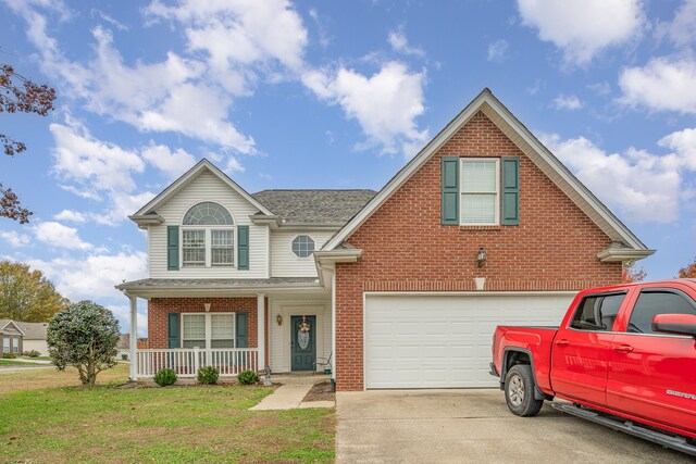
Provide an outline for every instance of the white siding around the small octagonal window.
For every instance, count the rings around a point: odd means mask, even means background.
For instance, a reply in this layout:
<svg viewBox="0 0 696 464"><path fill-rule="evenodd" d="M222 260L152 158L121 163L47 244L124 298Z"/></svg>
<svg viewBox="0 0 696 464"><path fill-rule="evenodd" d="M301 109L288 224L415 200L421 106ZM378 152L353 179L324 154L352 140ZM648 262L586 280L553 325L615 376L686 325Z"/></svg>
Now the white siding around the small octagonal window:
<svg viewBox="0 0 696 464"><path fill-rule="evenodd" d="M271 275L273 277L315 277L316 265L313 256L298 258L293 253L293 240L301 235L309 236L314 240L314 250L320 250L336 230L273 230L271 234Z"/></svg>

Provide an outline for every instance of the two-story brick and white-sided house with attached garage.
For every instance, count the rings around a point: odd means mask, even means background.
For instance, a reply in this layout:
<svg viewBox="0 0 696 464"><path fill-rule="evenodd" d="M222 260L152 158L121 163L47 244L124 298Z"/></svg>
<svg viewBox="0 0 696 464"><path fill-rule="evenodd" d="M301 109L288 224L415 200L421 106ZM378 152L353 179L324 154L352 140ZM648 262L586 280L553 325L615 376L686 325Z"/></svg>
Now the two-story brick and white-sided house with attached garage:
<svg viewBox="0 0 696 464"><path fill-rule="evenodd" d="M495 386L496 325L558 324L654 253L487 89L376 195L250 195L203 160L130 218L150 263L117 286L133 334L149 300L132 378L332 356L339 390Z"/></svg>

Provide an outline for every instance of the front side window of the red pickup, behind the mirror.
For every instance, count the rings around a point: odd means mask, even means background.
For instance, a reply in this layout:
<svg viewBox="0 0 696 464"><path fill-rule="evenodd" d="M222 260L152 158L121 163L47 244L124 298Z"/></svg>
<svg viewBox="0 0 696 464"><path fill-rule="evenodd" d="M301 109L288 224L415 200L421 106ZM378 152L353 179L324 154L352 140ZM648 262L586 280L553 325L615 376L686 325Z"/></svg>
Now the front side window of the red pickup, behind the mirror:
<svg viewBox="0 0 696 464"><path fill-rule="evenodd" d="M626 331L633 334L656 334L652 318L658 314L694 314L694 302L671 291L643 290L635 302Z"/></svg>

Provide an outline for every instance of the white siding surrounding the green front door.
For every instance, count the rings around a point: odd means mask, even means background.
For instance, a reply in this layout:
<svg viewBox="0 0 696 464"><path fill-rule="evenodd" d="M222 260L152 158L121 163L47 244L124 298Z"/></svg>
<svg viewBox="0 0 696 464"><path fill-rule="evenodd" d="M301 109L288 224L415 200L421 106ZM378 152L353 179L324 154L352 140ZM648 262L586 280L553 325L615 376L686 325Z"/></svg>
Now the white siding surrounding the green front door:
<svg viewBox="0 0 696 464"><path fill-rule="evenodd" d="M290 317L294 315L315 315L320 330L316 338L316 356L331 355L331 300L322 296L306 294L302 297L272 298L269 303L268 340L269 361L273 372L290 371ZM283 316L283 325L278 325L277 315ZM332 364L333 359L332 359Z"/></svg>

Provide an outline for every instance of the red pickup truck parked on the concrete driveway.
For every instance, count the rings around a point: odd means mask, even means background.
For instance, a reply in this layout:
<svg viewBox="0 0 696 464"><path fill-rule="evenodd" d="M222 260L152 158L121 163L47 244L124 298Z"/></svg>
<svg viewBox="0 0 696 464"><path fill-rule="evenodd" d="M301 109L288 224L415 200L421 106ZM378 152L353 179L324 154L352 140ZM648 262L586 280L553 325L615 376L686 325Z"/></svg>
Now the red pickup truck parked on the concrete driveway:
<svg viewBox="0 0 696 464"><path fill-rule="evenodd" d="M554 406L696 455L696 279L581 291L560 327L496 328L508 407Z"/></svg>

